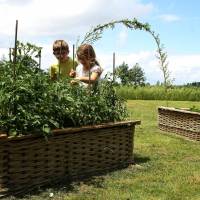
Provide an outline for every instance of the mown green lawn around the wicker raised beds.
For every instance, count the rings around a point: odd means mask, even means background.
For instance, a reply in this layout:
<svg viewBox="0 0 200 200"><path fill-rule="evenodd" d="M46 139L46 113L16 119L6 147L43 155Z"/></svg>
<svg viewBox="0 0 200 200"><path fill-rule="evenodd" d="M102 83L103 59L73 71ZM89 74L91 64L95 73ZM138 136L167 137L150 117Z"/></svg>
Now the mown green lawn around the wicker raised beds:
<svg viewBox="0 0 200 200"><path fill-rule="evenodd" d="M71 185L36 191L23 199L200 199L200 143L161 134L157 128L159 105L165 106L166 101L128 101L130 118L142 121L135 133L136 165ZM200 107L198 102L185 101L168 105Z"/></svg>

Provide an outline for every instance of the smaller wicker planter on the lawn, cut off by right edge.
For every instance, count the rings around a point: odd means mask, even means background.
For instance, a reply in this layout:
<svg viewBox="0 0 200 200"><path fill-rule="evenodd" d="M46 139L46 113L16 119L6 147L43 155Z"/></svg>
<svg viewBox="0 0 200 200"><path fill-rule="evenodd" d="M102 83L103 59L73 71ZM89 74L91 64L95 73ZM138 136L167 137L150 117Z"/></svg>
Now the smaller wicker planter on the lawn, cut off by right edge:
<svg viewBox="0 0 200 200"><path fill-rule="evenodd" d="M175 108L158 108L159 129L200 141L200 113Z"/></svg>

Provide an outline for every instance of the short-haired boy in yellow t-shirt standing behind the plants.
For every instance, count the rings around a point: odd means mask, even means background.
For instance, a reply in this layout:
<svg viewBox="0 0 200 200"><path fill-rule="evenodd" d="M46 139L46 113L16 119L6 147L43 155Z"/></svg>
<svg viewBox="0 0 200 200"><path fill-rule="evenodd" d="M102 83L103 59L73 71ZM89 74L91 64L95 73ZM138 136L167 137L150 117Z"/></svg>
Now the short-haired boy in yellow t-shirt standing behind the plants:
<svg viewBox="0 0 200 200"><path fill-rule="evenodd" d="M56 40L53 43L53 54L57 58L58 63L50 67L51 80L75 76L74 70L78 63L69 57L69 46L67 42L64 40Z"/></svg>

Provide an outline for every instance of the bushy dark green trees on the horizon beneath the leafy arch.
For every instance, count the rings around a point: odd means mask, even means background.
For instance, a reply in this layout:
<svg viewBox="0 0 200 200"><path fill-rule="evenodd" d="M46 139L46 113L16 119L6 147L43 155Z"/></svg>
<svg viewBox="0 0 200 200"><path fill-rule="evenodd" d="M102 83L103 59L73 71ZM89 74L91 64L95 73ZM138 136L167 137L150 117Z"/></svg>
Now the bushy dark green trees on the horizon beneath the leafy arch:
<svg viewBox="0 0 200 200"><path fill-rule="evenodd" d="M116 68L116 76L120 79L122 85L144 86L145 76L142 68L136 63L131 69L128 64L123 62Z"/></svg>

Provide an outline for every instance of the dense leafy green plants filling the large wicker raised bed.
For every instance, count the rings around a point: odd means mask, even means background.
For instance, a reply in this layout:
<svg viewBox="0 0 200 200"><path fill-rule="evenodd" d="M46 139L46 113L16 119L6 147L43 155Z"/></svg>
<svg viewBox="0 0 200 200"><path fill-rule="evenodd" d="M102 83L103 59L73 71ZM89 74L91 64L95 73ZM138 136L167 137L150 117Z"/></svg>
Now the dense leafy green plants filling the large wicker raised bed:
<svg viewBox="0 0 200 200"><path fill-rule="evenodd" d="M127 116L109 78L91 91L71 85L70 79L51 81L38 68L38 49L22 43L18 48L23 51L17 57L16 79L13 62L0 62L0 130L8 135L46 136L55 128L120 121Z"/></svg>

